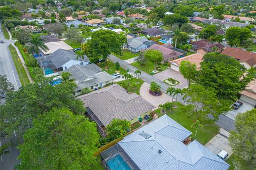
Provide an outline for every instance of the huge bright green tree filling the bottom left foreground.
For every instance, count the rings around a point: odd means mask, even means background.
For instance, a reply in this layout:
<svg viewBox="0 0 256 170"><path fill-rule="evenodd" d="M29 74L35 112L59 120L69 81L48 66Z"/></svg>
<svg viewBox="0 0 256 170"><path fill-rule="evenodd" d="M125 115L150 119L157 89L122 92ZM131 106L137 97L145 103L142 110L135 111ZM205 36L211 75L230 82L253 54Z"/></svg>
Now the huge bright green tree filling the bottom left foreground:
<svg viewBox="0 0 256 170"><path fill-rule="evenodd" d="M91 169L99 140L95 126L66 108L39 116L18 147L18 169Z"/></svg>

